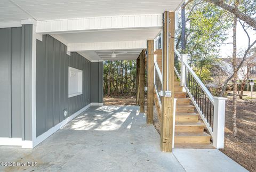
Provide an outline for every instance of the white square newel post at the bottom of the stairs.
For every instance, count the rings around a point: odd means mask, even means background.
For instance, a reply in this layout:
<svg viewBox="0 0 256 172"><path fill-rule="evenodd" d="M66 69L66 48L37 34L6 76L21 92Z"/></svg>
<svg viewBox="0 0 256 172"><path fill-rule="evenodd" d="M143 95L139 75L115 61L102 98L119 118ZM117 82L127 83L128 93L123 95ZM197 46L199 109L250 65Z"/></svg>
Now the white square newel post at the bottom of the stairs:
<svg viewBox="0 0 256 172"><path fill-rule="evenodd" d="M213 100L213 146L222 149L224 148L226 98L213 97Z"/></svg>

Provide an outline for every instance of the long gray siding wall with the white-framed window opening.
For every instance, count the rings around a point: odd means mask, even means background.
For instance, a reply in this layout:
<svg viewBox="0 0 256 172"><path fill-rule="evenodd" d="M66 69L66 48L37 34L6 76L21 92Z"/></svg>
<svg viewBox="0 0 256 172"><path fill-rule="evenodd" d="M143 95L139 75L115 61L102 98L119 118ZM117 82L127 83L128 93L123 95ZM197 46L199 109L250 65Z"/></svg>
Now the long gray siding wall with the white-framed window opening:
<svg viewBox="0 0 256 172"><path fill-rule="evenodd" d="M91 66L94 63L75 52L69 56L66 51L67 47L50 35L43 35L43 42L37 40L37 136L91 103ZM68 67L83 70L82 95L68 98ZM68 111L66 117L64 110Z"/></svg>

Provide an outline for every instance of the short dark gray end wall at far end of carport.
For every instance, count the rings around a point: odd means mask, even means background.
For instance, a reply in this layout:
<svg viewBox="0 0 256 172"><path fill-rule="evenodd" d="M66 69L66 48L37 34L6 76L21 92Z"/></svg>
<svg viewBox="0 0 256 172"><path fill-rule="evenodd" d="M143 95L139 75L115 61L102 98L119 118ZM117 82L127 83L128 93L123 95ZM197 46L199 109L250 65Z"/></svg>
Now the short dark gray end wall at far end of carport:
<svg viewBox="0 0 256 172"><path fill-rule="evenodd" d="M91 102L103 102L103 62L92 63L91 83L95 87L91 89Z"/></svg>

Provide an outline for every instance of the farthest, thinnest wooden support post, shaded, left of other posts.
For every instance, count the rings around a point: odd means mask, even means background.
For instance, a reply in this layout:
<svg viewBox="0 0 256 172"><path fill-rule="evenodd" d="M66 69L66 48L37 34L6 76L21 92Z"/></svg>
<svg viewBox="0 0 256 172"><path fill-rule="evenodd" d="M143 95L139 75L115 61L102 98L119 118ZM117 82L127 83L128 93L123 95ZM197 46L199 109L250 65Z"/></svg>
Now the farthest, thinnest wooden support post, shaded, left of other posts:
<svg viewBox="0 0 256 172"><path fill-rule="evenodd" d="M145 112L145 51L140 54L140 113Z"/></svg>

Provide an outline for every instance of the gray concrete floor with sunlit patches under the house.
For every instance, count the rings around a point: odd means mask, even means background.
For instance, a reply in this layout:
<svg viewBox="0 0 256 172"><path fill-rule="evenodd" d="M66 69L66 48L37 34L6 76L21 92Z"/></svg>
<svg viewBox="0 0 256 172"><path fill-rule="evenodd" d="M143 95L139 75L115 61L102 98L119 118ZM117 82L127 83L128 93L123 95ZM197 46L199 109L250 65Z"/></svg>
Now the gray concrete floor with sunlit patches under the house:
<svg viewBox="0 0 256 172"><path fill-rule="evenodd" d="M37 167L0 166L0 171L245 170L226 155L207 150L176 149L173 153L162 153L159 134L145 121L139 107L91 107L35 149L0 146L0 162L38 163ZM210 159L202 159L209 156ZM218 163L225 167L215 168Z"/></svg>

